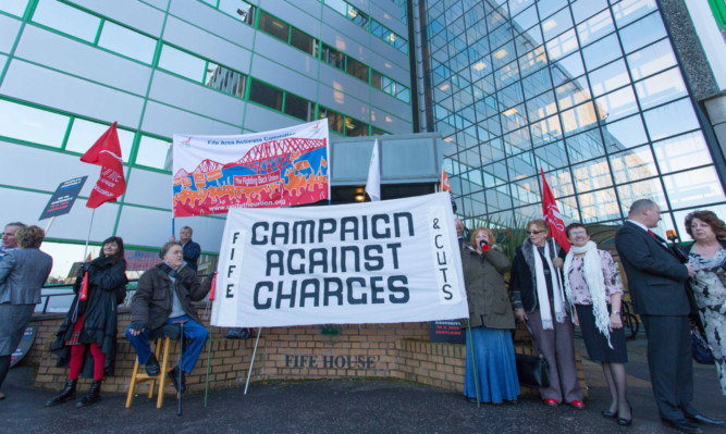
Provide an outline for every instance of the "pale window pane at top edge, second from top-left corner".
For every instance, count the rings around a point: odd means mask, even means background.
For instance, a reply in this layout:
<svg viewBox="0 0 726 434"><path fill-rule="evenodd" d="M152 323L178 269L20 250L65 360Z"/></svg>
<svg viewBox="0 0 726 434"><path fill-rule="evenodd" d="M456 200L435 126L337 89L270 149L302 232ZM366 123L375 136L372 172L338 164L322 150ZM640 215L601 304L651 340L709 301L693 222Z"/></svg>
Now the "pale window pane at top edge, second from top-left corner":
<svg viewBox="0 0 726 434"><path fill-rule="evenodd" d="M101 18L56 0L40 0L33 13L33 21L64 34L94 42Z"/></svg>

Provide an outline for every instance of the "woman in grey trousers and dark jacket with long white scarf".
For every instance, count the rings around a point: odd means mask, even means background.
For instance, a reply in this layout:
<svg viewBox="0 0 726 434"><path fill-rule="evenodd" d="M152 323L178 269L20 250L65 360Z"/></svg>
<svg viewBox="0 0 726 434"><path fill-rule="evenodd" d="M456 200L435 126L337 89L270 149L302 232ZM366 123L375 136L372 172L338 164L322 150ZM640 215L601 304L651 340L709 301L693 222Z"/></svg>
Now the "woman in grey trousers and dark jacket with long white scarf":
<svg viewBox="0 0 726 434"><path fill-rule="evenodd" d="M550 387L541 387L544 404L561 402L582 409L582 388L577 381L575 330L562 285L565 251L552 238L544 220L527 224L529 238L515 252L510 288L514 314L528 322L540 351L550 364Z"/></svg>

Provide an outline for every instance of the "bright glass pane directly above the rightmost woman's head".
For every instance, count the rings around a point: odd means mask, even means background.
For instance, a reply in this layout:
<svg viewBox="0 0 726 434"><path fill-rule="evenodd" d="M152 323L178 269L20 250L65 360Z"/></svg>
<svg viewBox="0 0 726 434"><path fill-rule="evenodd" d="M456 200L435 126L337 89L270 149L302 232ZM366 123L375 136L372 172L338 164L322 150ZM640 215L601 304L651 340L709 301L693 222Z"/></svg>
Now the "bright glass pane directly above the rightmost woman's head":
<svg viewBox="0 0 726 434"><path fill-rule="evenodd" d="M724 189L713 166L663 176L672 209L723 202Z"/></svg>

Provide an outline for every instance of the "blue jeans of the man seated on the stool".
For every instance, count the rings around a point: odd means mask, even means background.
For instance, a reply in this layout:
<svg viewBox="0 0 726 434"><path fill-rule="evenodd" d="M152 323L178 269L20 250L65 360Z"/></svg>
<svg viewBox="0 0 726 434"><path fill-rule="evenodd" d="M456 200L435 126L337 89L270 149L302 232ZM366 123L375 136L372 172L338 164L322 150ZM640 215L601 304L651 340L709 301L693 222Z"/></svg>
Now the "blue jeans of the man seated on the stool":
<svg viewBox="0 0 726 434"><path fill-rule="evenodd" d="M180 320L186 320L186 323L184 324L184 338L186 340L184 344L184 352L182 352L182 371L189 373L197 363L199 354L204 349L209 334L207 333L207 328L202 327L201 324L194 321L188 315L170 318L167 320L167 324ZM146 364L151 356L151 347L149 345L150 334L151 332L148 328L145 328L144 332L134 336L131 334L131 328L126 328L126 339L128 339L134 349L136 349L138 364Z"/></svg>

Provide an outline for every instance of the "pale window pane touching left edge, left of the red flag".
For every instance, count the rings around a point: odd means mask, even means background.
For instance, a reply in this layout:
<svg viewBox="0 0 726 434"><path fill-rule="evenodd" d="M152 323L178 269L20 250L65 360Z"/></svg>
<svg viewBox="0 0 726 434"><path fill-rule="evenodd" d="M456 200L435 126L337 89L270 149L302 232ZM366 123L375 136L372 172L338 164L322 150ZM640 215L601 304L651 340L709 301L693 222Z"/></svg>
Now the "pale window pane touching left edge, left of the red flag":
<svg viewBox="0 0 726 434"><path fill-rule="evenodd" d="M60 148L67 126L67 116L0 100L0 136Z"/></svg>

